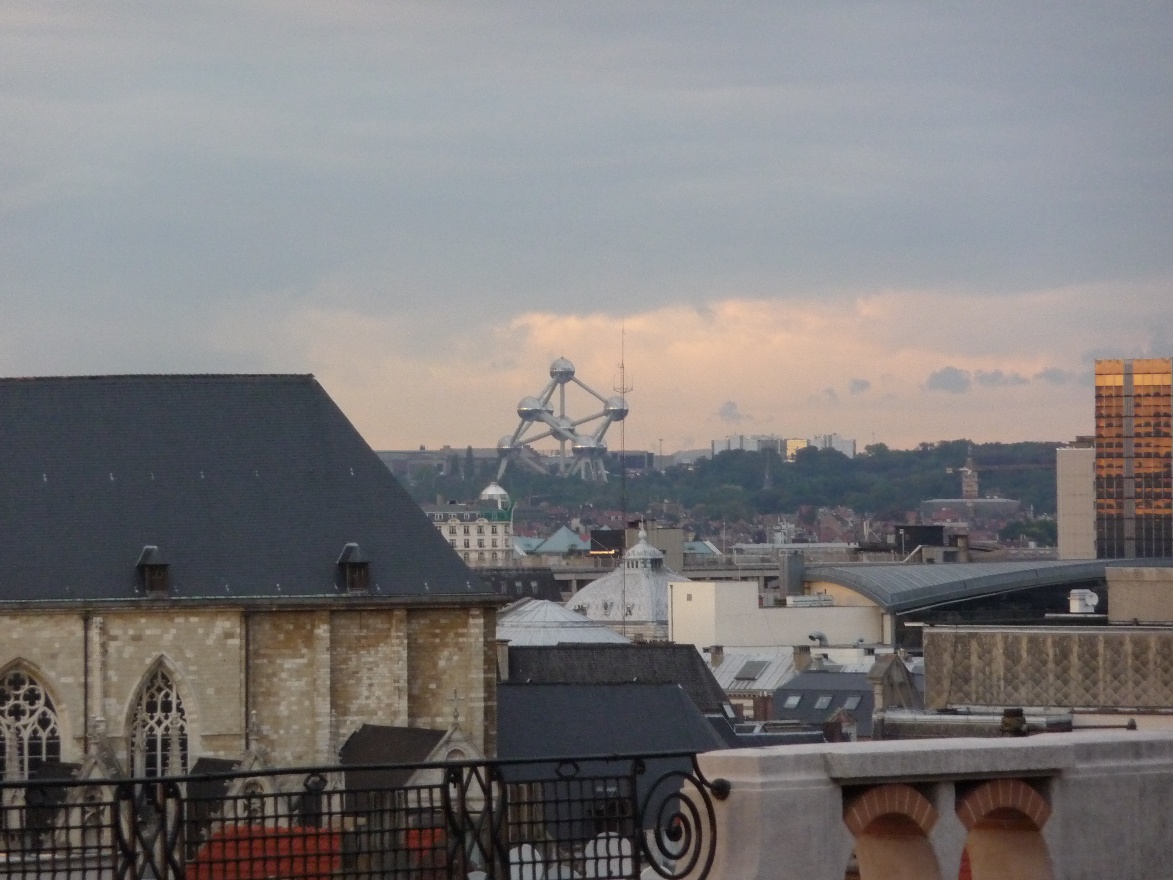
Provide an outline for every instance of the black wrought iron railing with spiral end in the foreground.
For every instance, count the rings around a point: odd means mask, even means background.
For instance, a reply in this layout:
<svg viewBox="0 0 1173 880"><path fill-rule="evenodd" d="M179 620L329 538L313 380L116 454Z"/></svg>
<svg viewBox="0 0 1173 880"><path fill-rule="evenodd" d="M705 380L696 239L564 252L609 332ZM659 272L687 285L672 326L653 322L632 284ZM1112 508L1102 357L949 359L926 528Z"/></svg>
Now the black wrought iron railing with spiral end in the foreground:
<svg viewBox="0 0 1173 880"><path fill-rule="evenodd" d="M686 752L0 783L0 878L704 878Z"/></svg>

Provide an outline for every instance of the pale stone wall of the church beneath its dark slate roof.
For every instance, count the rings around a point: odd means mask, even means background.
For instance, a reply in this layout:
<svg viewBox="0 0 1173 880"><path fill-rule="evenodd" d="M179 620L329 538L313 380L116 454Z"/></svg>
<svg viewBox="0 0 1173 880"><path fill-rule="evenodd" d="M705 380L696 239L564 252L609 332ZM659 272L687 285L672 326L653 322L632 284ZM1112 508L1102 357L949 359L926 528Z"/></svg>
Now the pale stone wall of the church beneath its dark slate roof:
<svg viewBox="0 0 1173 880"><path fill-rule="evenodd" d="M231 604L0 614L0 671L46 689L61 758L103 733L126 766L128 725L162 664L183 700L191 761L258 749L270 765L330 764L361 724L447 730L496 746L493 607Z"/></svg>

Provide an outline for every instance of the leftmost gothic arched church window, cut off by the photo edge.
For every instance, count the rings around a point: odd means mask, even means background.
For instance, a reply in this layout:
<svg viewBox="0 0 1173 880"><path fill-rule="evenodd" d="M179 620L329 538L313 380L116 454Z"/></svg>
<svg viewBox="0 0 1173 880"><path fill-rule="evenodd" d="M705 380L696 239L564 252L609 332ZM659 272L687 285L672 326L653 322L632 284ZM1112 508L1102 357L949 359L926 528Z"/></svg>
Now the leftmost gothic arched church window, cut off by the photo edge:
<svg viewBox="0 0 1173 880"><path fill-rule="evenodd" d="M27 779L42 764L61 760L61 731L53 700L22 669L0 677L0 778Z"/></svg>

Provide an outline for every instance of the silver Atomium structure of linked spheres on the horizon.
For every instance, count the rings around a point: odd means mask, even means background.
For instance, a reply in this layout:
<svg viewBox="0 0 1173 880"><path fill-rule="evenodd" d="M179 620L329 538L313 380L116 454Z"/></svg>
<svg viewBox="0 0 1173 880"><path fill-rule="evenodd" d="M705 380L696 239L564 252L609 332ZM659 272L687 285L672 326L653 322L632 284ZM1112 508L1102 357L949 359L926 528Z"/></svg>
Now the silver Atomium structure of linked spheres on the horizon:
<svg viewBox="0 0 1173 880"><path fill-rule="evenodd" d="M603 408L581 419L567 412L567 386L577 385ZM558 394L557 412L551 402ZM542 391L524 397L517 404L517 428L509 436L497 441L497 466L500 480L510 461L533 468L540 473L552 471L560 476L579 476L583 480L606 480L606 429L613 422L628 418L628 400L624 397L603 397L575 375L575 365L565 358L550 364L550 381ZM542 455L531 444L552 439L558 442L557 455Z"/></svg>

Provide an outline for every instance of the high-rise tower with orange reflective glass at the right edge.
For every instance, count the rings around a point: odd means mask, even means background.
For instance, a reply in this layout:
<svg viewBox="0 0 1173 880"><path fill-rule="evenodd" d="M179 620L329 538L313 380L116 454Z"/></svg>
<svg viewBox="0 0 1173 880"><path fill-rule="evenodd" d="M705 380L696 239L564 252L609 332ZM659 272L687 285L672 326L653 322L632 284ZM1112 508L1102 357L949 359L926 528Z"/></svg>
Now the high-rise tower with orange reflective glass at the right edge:
<svg viewBox="0 0 1173 880"><path fill-rule="evenodd" d="M1096 555L1173 556L1173 359L1096 361Z"/></svg>

